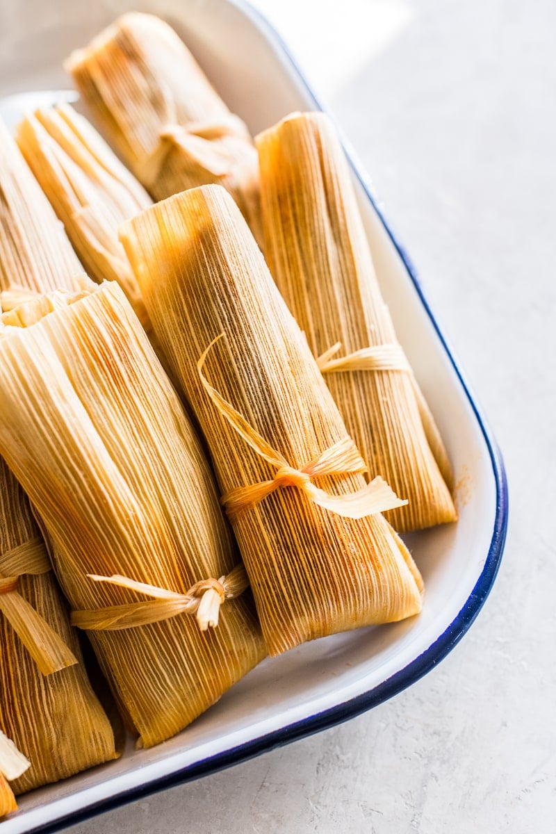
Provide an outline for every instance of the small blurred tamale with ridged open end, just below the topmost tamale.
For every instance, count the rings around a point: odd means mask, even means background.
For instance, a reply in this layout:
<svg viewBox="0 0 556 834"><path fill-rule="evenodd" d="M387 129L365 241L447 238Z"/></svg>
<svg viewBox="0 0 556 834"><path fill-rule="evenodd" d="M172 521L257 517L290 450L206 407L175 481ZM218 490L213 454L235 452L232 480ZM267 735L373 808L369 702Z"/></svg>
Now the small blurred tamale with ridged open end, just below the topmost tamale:
<svg viewBox="0 0 556 834"><path fill-rule="evenodd" d="M69 104L38 109L18 125L18 147L88 275L118 281L143 326L147 314L118 226L151 199L87 119Z"/></svg>

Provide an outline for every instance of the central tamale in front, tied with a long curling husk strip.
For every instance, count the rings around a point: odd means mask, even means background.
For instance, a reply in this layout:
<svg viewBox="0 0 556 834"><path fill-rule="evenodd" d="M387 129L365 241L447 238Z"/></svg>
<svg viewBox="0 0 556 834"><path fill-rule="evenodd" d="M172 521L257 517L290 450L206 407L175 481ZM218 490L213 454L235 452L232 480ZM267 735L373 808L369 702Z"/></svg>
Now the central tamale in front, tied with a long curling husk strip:
<svg viewBox="0 0 556 834"><path fill-rule="evenodd" d="M418 613L421 577L378 513L400 502L380 479L365 484L233 200L194 188L120 237L208 442L269 653Z"/></svg>

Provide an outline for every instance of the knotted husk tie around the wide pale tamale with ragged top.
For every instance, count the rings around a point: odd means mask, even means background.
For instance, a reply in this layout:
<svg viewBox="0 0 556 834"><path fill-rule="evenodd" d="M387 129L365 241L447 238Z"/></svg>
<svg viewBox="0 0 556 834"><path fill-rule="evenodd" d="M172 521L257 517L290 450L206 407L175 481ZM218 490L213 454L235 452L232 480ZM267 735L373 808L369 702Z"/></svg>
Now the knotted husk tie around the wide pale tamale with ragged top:
<svg viewBox="0 0 556 834"><path fill-rule="evenodd" d="M120 588L136 590L154 596L148 602L130 602L128 605L108 605L98 610L73 611L72 625L85 631L121 631L138 625L169 620L178 614L194 614L201 631L216 628L220 605L233 600L248 587L249 580L243 565L236 565L227 576L196 582L186 594L158 588L145 582L136 582L127 576L98 576L88 574L95 582L108 582Z"/></svg>

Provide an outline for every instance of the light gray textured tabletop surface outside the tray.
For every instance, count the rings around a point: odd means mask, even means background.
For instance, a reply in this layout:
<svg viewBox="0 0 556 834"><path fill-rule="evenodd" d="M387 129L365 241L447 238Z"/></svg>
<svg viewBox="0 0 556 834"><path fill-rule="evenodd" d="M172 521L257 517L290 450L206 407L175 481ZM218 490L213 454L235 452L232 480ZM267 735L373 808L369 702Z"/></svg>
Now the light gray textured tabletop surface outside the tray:
<svg viewBox="0 0 556 834"><path fill-rule="evenodd" d="M348 724L69 829L556 829L556 6L272 3L353 142L502 447L508 544L463 642Z"/></svg>

